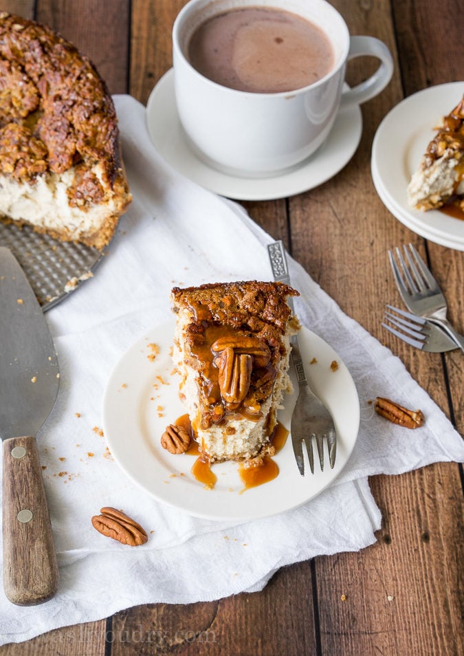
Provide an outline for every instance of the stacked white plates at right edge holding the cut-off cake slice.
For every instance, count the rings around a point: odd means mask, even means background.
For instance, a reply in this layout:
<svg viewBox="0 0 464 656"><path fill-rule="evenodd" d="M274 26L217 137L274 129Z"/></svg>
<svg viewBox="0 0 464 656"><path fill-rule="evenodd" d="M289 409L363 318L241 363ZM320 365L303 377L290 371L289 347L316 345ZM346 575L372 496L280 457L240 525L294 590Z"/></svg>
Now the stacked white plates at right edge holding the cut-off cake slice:
<svg viewBox="0 0 464 656"><path fill-rule="evenodd" d="M408 205L407 188L435 126L456 107L464 82L423 89L396 105L379 125L372 146L371 172L386 208L407 228L455 250L464 250L464 221L439 210L422 212Z"/></svg>

